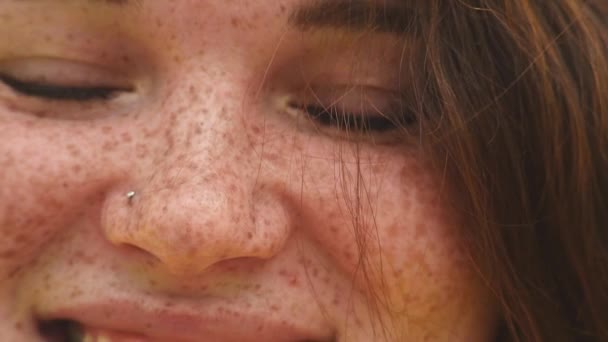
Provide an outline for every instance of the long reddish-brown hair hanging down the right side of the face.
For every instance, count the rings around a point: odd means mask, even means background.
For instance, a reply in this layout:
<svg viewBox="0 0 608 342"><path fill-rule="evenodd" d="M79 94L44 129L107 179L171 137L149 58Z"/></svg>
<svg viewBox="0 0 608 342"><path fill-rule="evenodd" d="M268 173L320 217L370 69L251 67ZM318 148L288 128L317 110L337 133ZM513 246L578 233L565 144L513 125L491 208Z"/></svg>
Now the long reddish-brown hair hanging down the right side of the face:
<svg viewBox="0 0 608 342"><path fill-rule="evenodd" d="M608 341L608 3L403 1L421 139L499 303L496 340Z"/></svg>

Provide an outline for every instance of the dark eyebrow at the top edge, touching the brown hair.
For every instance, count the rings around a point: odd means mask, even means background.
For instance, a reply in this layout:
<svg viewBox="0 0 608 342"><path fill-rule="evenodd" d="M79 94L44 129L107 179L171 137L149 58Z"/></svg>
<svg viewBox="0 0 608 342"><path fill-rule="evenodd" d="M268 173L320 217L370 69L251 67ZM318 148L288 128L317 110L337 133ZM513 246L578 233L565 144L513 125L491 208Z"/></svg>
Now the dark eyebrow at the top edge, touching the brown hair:
<svg viewBox="0 0 608 342"><path fill-rule="evenodd" d="M313 0L298 7L289 23L301 30L322 28L403 35L416 30L416 15L405 1Z"/></svg>

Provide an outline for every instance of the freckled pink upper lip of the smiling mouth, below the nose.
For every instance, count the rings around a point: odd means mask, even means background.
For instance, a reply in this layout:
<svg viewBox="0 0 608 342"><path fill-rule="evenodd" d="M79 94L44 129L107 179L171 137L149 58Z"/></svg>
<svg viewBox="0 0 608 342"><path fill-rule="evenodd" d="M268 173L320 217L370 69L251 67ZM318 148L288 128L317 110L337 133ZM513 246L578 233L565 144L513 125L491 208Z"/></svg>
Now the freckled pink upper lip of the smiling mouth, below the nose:
<svg viewBox="0 0 608 342"><path fill-rule="evenodd" d="M230 303L211 307L143 305L134 300L110 299L66 306L40 315L41 320L71 320L109 331L138 334L153 341L330 341L327 329L307 326L298 317L276 317Z"/></svg>

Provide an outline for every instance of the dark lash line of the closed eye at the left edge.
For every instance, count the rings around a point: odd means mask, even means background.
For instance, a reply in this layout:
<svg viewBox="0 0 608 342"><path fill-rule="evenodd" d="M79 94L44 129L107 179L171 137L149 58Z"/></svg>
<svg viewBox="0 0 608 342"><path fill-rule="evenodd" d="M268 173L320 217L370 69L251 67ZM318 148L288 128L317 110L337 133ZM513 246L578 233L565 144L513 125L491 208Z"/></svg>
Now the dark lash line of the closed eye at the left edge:
<svg viewBox="0 0 608 342"><path fill-rule="evenodd" d="M129 89L110 87L70 87L30 83L7 75L0 75L0 81L22 95L45 100L77 102L108 100L117 92L129 91Z"/></svg>

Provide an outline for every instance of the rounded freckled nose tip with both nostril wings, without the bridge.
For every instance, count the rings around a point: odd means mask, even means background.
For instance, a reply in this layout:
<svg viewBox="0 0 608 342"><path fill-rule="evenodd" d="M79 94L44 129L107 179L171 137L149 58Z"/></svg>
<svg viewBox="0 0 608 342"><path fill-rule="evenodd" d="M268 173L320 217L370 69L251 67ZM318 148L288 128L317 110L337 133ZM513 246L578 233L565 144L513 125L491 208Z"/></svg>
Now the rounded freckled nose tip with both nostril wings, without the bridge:
<svg viewBox="0 0 608 342"><path fill-rule="evenodd" d="M126 200L136 203L127 204L132 214L120 218L115 212L106 219L106 238L154 256L173 275L192 276L224 260L278 254L289 236L280 204L270 194L227 192L212 182L136 193Z"/></svg>

